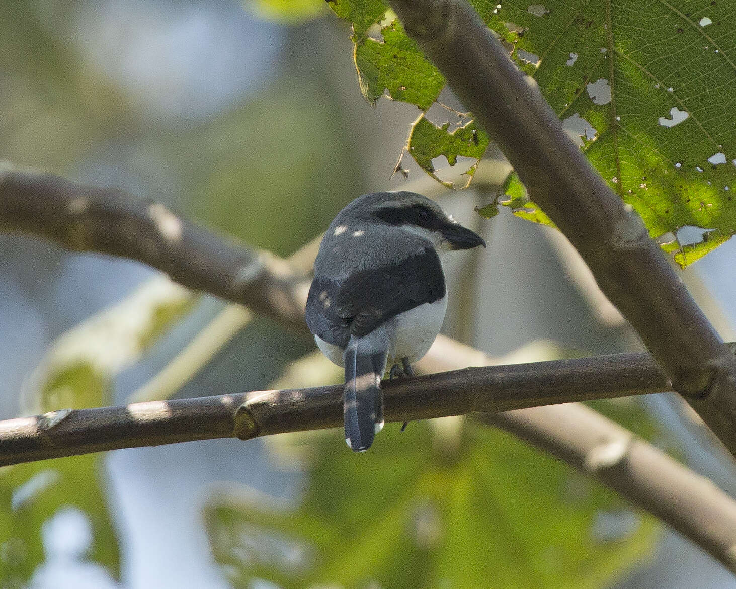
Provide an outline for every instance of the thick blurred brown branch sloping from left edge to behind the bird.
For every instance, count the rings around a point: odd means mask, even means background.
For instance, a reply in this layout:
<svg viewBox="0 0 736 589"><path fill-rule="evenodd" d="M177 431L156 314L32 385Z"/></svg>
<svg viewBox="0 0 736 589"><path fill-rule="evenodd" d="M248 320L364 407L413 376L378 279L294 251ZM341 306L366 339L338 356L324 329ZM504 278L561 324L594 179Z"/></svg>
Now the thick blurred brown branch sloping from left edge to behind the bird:
<svg viewBox="0 0 736 589"><path fill-rule="evenodd" d="M311 281L306 273L119 188L85 186L0 162L0 230L45 237L68 250L142 261L183 286L305 328Z"/></svg>

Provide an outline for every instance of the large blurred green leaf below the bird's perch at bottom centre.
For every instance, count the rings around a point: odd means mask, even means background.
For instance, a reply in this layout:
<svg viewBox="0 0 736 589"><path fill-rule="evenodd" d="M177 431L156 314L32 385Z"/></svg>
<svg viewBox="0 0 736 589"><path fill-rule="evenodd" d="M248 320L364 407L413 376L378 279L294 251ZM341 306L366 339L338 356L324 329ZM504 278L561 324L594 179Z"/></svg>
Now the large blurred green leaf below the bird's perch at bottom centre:
<svg viewBox="0 0 736 589"><path fill-rule="evenodd" d="M302 437L313 458L296 507L242 487L211 496L232 586L598 588L651 554L654 518L509 434L397 429L361 455L336 431Z"/></svg>

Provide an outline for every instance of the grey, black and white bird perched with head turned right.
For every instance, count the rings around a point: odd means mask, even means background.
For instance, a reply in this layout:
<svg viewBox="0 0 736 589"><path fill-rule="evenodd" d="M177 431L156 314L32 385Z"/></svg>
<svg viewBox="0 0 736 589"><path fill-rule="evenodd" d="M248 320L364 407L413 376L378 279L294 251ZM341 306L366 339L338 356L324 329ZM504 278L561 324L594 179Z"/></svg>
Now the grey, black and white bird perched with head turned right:
<svg viewBox="0 0 736 589"><path fill-rule="evenodd" d="M353 451L367 450L383 428L387 363L392 375L412 375L442 328L443 255L478 245L486 247L477 233L410 191L364 194L330 224L305 319L319 350L344 367L345 442Z"/></svg>

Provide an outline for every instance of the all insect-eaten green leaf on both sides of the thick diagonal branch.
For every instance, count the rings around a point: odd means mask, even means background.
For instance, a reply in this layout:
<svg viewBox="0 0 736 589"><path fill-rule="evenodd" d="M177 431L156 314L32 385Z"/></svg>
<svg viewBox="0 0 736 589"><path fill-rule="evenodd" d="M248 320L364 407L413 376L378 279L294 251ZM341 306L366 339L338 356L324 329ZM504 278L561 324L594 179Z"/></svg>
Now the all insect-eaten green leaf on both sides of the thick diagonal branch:
<svg viewBox="0 0 736 589"><path fill-rule="evenodd" d="M383 19L386 2L329 4L353 22L355 63L366 97L375 101L387 88L392 98L426 110L442 88L441 77L400 24L384 26L383 39L357 34ZM631 10L626 0L471 4L517 66L539 82L559 117L587 126L590 135L573 127L570 133L609 186L642 216L652 237L676 235L685 225L710 230L709 239L677 244L679 264L690 264L733 235L734 0L662 2L647 4L647 10ZM405 46L411 59L394 49ZM676 122L676 116L684 118ZM447 140L435 141L436 152L451 164ZM414 155L411 141L409 152ZM426 161L417 163L432 172ZM515 176L510 191L510 198L481 212L492 216L500 203L525 219L551 224L528 202Z"/></svg>

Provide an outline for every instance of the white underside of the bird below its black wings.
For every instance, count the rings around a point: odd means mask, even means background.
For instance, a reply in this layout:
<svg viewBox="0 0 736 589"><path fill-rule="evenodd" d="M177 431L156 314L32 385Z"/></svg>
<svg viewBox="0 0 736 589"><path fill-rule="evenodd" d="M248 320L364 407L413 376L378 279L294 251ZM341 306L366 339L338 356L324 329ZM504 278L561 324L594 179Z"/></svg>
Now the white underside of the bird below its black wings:
<svg viewBox="0 0 736 589"><path fill-rule="evenodd" d="M367 336L351 339L365 353L376 353L388 348L389 365L393 360L408 358L410 363L427 353L442 328L447 310L447 296L434 303L424 303L398 314ZM331 361L342 366L342 348L314 336L317 347Z"/></svg>

